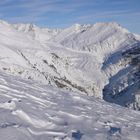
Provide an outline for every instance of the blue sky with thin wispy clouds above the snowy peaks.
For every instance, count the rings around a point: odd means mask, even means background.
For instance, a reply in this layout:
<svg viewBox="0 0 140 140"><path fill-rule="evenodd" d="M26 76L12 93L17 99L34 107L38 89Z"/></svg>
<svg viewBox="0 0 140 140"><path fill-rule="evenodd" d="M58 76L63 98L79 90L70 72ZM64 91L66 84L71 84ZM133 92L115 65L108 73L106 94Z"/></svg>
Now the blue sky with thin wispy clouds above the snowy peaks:
<svg viewBox="0 0 140 140"><path fill-rule="evenodd" d="M0 19L50 28L113 21L140 34L140 0L0 0Z"/></svg>

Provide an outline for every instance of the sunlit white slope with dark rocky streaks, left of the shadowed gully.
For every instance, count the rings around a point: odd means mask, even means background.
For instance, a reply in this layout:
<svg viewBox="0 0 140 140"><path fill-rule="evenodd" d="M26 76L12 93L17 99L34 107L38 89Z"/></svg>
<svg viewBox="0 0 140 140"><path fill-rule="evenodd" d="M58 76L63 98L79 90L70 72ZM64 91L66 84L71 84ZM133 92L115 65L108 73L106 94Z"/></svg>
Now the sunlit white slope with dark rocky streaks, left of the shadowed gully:
<svg viewBox="0 0 140 140"><path fill-rule="evenodd" d="M64 48L58 42L45 43L8 23L1 23L1 29L1 69L46 84L102 96L104 76L96 55Z"/></svg>

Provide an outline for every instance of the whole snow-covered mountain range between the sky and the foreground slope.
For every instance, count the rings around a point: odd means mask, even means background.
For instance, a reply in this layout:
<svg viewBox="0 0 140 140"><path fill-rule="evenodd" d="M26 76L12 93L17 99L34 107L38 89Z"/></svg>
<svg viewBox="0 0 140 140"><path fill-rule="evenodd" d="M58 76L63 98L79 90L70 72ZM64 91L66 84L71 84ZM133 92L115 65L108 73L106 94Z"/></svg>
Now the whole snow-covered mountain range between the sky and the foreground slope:
<svg viewBox="0 0 140 140"><path fill-rule="evenodd" d="M0 21L0 70L140 109L140 37L117 23L66 29Z"/></svg>

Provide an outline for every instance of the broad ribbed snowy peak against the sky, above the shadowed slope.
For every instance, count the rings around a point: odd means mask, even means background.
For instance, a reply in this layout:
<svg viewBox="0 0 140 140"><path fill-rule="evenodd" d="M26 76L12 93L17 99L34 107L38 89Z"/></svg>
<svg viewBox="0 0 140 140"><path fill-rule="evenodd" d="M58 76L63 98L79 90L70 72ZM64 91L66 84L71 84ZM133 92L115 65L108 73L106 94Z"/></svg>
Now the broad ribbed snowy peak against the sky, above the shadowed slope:
<svg viewBox="0 0 140 140"><path fill-rule="evenodd" d="M133 35L117 23L73 25L63 30L53 40L65 47L97 53L104 58L133 42Z"/></svg>

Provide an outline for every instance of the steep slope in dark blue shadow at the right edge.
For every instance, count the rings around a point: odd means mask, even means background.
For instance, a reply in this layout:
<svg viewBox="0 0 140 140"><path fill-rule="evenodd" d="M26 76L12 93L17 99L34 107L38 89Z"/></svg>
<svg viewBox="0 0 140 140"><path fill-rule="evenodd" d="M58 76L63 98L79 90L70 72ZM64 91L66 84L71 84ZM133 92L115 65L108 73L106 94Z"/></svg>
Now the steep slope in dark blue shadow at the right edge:
<svg viewBox="0 0 140 140"><path fill-rule="evenodd" d="M140 42L122 53L118 60L125 65L118 73L112 75L104 88L104 99L123 106L140 109ZM115 62L114 65L117 65ZM109 67L112 64L110 64Z"/></svg>

